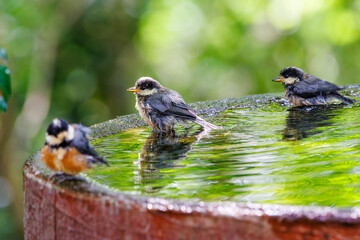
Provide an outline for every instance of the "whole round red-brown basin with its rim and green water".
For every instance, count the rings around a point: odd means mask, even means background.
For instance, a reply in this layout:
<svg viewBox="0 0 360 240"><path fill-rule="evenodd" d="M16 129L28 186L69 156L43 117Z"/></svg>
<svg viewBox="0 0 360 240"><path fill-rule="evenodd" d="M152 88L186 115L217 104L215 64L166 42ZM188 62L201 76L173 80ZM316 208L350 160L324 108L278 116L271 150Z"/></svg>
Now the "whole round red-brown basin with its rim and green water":
<svg viewBox="0 0 360 240"><path fill-rule="evenodd" d="M345 92L360 96L358 86ZM93 126L93 144L111 167L84 181L51 181L32 156L25 236L36 239L26 229L44 217L57 239L360 236L359 103L289 109L267 94L192 107L224 129L204 134L189 124L163 137L137 115Z"/></svg>

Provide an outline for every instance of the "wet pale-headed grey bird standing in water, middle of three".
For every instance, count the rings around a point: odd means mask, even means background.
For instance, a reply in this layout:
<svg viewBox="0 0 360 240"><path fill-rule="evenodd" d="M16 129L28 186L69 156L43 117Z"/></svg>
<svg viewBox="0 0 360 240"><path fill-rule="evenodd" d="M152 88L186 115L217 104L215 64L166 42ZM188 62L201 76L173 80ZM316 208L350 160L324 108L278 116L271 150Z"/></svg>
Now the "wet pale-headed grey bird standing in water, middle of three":
<svg viewBox="0 0 360 240"><path fill-rule="evenodd" d="M161 86L150 77L139 78L135 87L128 91L136 95L136 109L155 132L171 133L179 121L192 121L201 125L205 131L221 128L197 116L179 93Z"/></svg>

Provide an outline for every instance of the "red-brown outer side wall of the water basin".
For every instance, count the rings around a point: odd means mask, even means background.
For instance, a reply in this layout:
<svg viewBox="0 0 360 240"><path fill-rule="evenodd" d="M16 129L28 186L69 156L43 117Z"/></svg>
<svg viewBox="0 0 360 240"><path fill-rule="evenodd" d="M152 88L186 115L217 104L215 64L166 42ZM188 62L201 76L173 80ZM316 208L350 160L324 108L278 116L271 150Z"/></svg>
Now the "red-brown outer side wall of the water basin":
<svg viewBox="0 0 360 240"><path fill-rule="evenodd" d="M24 174L24 190L27 240L360 239L356 222L290 219L246 209L235 217L161 211L130 198L66 191L30 173Z"/></svg>

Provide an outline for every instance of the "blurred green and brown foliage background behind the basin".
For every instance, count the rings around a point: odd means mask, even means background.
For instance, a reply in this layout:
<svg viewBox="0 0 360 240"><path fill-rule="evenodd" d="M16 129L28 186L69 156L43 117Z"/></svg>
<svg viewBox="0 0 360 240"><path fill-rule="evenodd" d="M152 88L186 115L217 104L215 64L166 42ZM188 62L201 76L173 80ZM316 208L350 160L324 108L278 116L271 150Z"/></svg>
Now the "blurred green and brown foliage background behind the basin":
<svg viewBox="0 0 360 240"><path fill-rule="evenodd" d="M283 91L295 65L359 82L360 1L2 0L13 94L0 115L0 239L22 239L22 166L54 117L92 125L134 113L151 76L186 102Z"/></svg>

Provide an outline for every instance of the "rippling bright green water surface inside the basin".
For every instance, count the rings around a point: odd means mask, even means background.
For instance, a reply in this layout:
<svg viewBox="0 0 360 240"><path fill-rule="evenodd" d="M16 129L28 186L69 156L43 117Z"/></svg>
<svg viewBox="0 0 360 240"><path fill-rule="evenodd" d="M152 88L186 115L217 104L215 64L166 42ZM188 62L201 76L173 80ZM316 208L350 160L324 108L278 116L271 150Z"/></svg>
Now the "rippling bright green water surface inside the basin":
<svg viewBox="0 0 360 240"><path fill-rule="evenodd" d="M204 201L360 205L359 106L287 111L277 105L211 119L222 130L177 138L149 128L101 139L111 167L87 173L131 194Z"/></svg>

